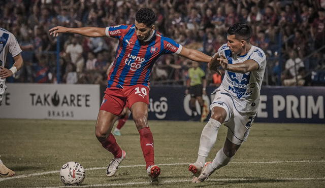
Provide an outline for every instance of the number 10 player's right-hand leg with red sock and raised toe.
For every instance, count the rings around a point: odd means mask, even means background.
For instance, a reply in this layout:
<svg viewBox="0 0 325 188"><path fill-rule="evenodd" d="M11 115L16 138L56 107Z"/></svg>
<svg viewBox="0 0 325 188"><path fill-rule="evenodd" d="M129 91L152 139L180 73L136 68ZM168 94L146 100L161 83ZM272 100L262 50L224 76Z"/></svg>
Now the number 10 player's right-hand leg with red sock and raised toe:
<svg viewBox="0 0 325 188"><path fill-rule="evenodd" d="M151 181L157 181L160 168L154 165L153 136L148 125L148 104L136 102L131 107L132 117L140 134L140 145Z"/></svg>

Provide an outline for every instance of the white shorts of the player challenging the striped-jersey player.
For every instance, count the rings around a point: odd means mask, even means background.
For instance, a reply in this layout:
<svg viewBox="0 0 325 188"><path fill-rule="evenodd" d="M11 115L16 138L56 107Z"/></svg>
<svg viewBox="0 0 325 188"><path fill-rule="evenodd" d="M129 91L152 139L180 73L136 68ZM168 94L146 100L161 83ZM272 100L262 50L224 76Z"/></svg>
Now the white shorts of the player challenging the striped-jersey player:
<svg viewBox="0 0 325 188"><path fill-rule="evenodd" d="M214 92L215 96L210 105L210 110L212 111L213 107L218 106L226 111L227 115L223 124L228 127L227 138L232 143L241 145L243 141L247 140L256 114L239 112L229 93L221 92L219 89Z"/></svg>

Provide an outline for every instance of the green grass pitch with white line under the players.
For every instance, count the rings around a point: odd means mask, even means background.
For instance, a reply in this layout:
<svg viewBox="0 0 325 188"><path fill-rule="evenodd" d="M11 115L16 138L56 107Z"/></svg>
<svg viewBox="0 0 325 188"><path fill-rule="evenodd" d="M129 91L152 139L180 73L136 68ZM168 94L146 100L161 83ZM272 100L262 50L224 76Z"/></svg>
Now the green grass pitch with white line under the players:
<svg viewBox="0 0 325 188"><path fill-rule="evenodd" d="M112 155L96 140L94 121L0 120L0 155L16 172L0 187L57 187L59 169L76 161L86 168L86 187L325 187L325 124L255 123L231 163L203 183L190 183L205 123L149 121L159 184L149 183L133 121L116 137L126 151L115 176L105 171ZM224 143L222 126L208 161Z"/></svg>

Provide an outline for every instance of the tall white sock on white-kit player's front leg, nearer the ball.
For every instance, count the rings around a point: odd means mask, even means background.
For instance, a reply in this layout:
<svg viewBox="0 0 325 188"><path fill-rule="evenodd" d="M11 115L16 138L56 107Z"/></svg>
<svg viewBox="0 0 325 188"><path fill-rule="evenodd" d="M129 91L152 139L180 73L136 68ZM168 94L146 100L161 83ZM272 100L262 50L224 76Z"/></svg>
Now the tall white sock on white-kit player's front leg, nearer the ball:
<svg viewBox="0 0 325 188"><path fill-rule="evenodd" d="M221 123L215 119L210 118L207 125L202 130L200 147L198 152L197 162L205 163L205 159L208 157L215 141L217 140L218 130Z"/></svg>

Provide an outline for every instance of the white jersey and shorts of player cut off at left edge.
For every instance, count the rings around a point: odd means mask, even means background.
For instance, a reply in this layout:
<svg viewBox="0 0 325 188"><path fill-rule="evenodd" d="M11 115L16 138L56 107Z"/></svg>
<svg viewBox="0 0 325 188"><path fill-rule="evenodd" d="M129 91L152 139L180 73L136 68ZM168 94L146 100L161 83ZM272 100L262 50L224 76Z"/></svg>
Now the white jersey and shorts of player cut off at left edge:
<svg viewBox="0 0 325 188"><path fill-rule="evenodd" d="M11 32L0 27L0 66L2 67L5 67L8 51L11 53L12 57L15 57L21 52L21 49L16 37ZM6 90L5 81L6 79L0 78L0 96L2 96Z"/></svg>

